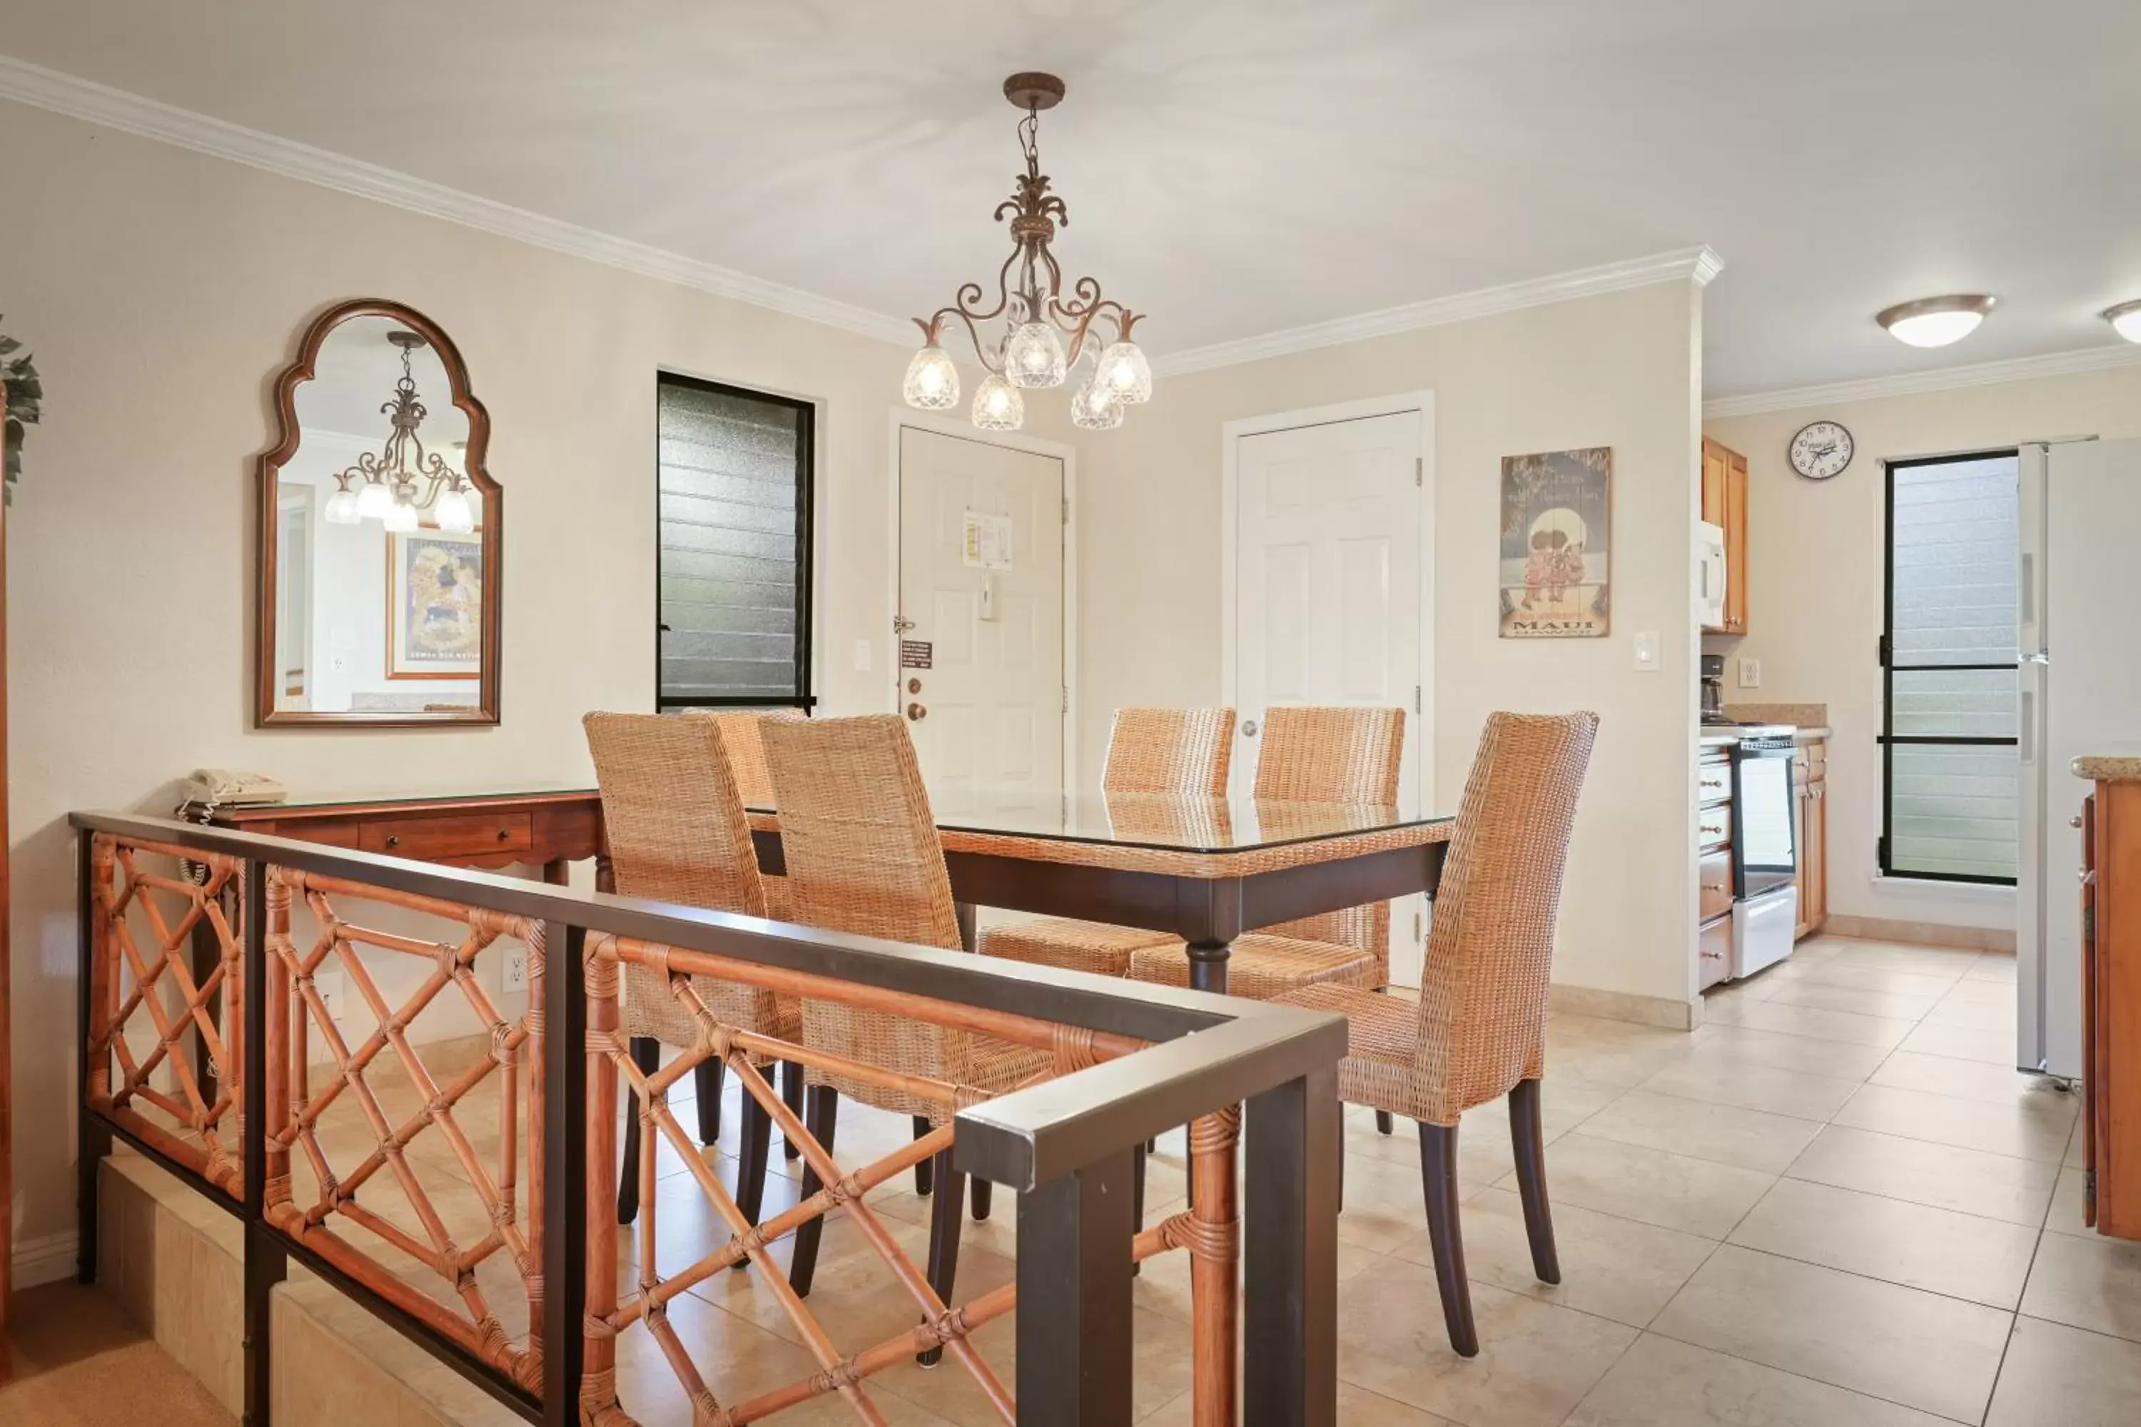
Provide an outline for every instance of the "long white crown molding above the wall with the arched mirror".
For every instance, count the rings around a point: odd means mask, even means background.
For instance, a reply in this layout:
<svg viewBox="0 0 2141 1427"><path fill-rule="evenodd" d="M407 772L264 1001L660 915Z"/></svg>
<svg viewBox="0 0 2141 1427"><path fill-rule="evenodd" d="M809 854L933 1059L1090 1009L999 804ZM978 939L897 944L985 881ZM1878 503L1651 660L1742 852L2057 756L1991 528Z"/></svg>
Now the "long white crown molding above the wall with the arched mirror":
<svg viewBox="0 0 2141 1427"><path fill-rule="evenodd" d="M552 252L602 263L604 267L621 267L644 278L771 308L788 317L824 323L826 327L841 327L884 342L899 342L901 347L914 342L912 323L886 312L820 297L799 287L766 282L764 278L754 278L730 267L702 263L610 233L597 233L595 229L559 218L544 218L525 208L482 199L473 193L460 193L458 188L364 163L362 158L332 154L310 143L280 139L257 128L244 128L242 124L229 124L206 113L128 94L126 90L113 90L13 56L0 56L0 98L13 98L15 103L103 124L105 128L118 128L143 139L176 143L197 154L227 158L537 248L550 248Z"/></svg>

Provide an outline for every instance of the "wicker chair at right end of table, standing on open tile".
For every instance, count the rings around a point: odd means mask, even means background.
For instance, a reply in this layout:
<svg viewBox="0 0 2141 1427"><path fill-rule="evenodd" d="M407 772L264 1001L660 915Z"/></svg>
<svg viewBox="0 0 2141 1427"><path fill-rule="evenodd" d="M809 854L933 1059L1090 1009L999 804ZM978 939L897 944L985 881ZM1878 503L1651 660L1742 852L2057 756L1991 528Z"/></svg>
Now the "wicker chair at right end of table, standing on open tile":
<svg viewBox="0 0 2141 1427"><path fill-rule="evenodd" d="M1546 1200L1539 1076L1561 873L1597 727L1593 712L1488 717L1434 896L1417 1003L1351 986L1306 986L1278 997L1282 1006L1347 1018L1351 1048L1338 1063L1340 1100L1419 1121L1434 1279L1449 1346L1462 1356L1479 1352L1458 1226L1464 1110L1509 1098L1531 1267L1539 1282L1561 1282Z"/></svg>

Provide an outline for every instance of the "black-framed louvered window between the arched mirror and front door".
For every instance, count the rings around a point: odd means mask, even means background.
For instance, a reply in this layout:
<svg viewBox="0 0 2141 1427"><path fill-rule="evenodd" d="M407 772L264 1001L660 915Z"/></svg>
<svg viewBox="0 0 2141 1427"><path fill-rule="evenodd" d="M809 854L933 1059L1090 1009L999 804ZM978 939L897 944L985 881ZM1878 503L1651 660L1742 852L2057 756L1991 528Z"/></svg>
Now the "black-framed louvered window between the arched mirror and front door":
<svg viewBox="0 0 2141 1427"><path fill-rule="evenodd" d="M657 387L659 706L809 702L811 406Z"/></svg>

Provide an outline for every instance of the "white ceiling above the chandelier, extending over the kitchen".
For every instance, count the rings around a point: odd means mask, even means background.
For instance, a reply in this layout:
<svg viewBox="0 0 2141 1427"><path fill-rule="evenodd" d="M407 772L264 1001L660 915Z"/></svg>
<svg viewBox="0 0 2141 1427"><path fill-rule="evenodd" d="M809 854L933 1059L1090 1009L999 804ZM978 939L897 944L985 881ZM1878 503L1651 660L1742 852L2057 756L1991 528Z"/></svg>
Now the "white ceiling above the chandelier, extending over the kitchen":
<svg viewBox="0 0 2141 1427"><path fill-rule="evenodd" d="M0 0L0 49L886 314L1066 270L1182 353L1709 244L1706 396L2115 347L2135 0ZM1920 353L1873 310L1991 291Z"/></svg>

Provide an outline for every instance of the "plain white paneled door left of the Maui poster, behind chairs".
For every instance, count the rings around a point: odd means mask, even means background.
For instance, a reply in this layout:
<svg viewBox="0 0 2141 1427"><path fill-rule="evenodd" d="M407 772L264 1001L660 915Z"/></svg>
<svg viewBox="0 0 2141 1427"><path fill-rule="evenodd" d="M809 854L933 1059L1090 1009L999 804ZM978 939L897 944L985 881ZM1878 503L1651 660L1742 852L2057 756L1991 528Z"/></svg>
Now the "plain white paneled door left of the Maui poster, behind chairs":
<svg viewBox="0 0 2141 1427"><path fill-rule="evenodd" d="M1319 421L1235 439L1233 787L1257 774L1272 704L1404 708L1402 813L1422 807L1422 413ZM1424 907L1392 905L1390 973L1419 980Z"/></svg>

